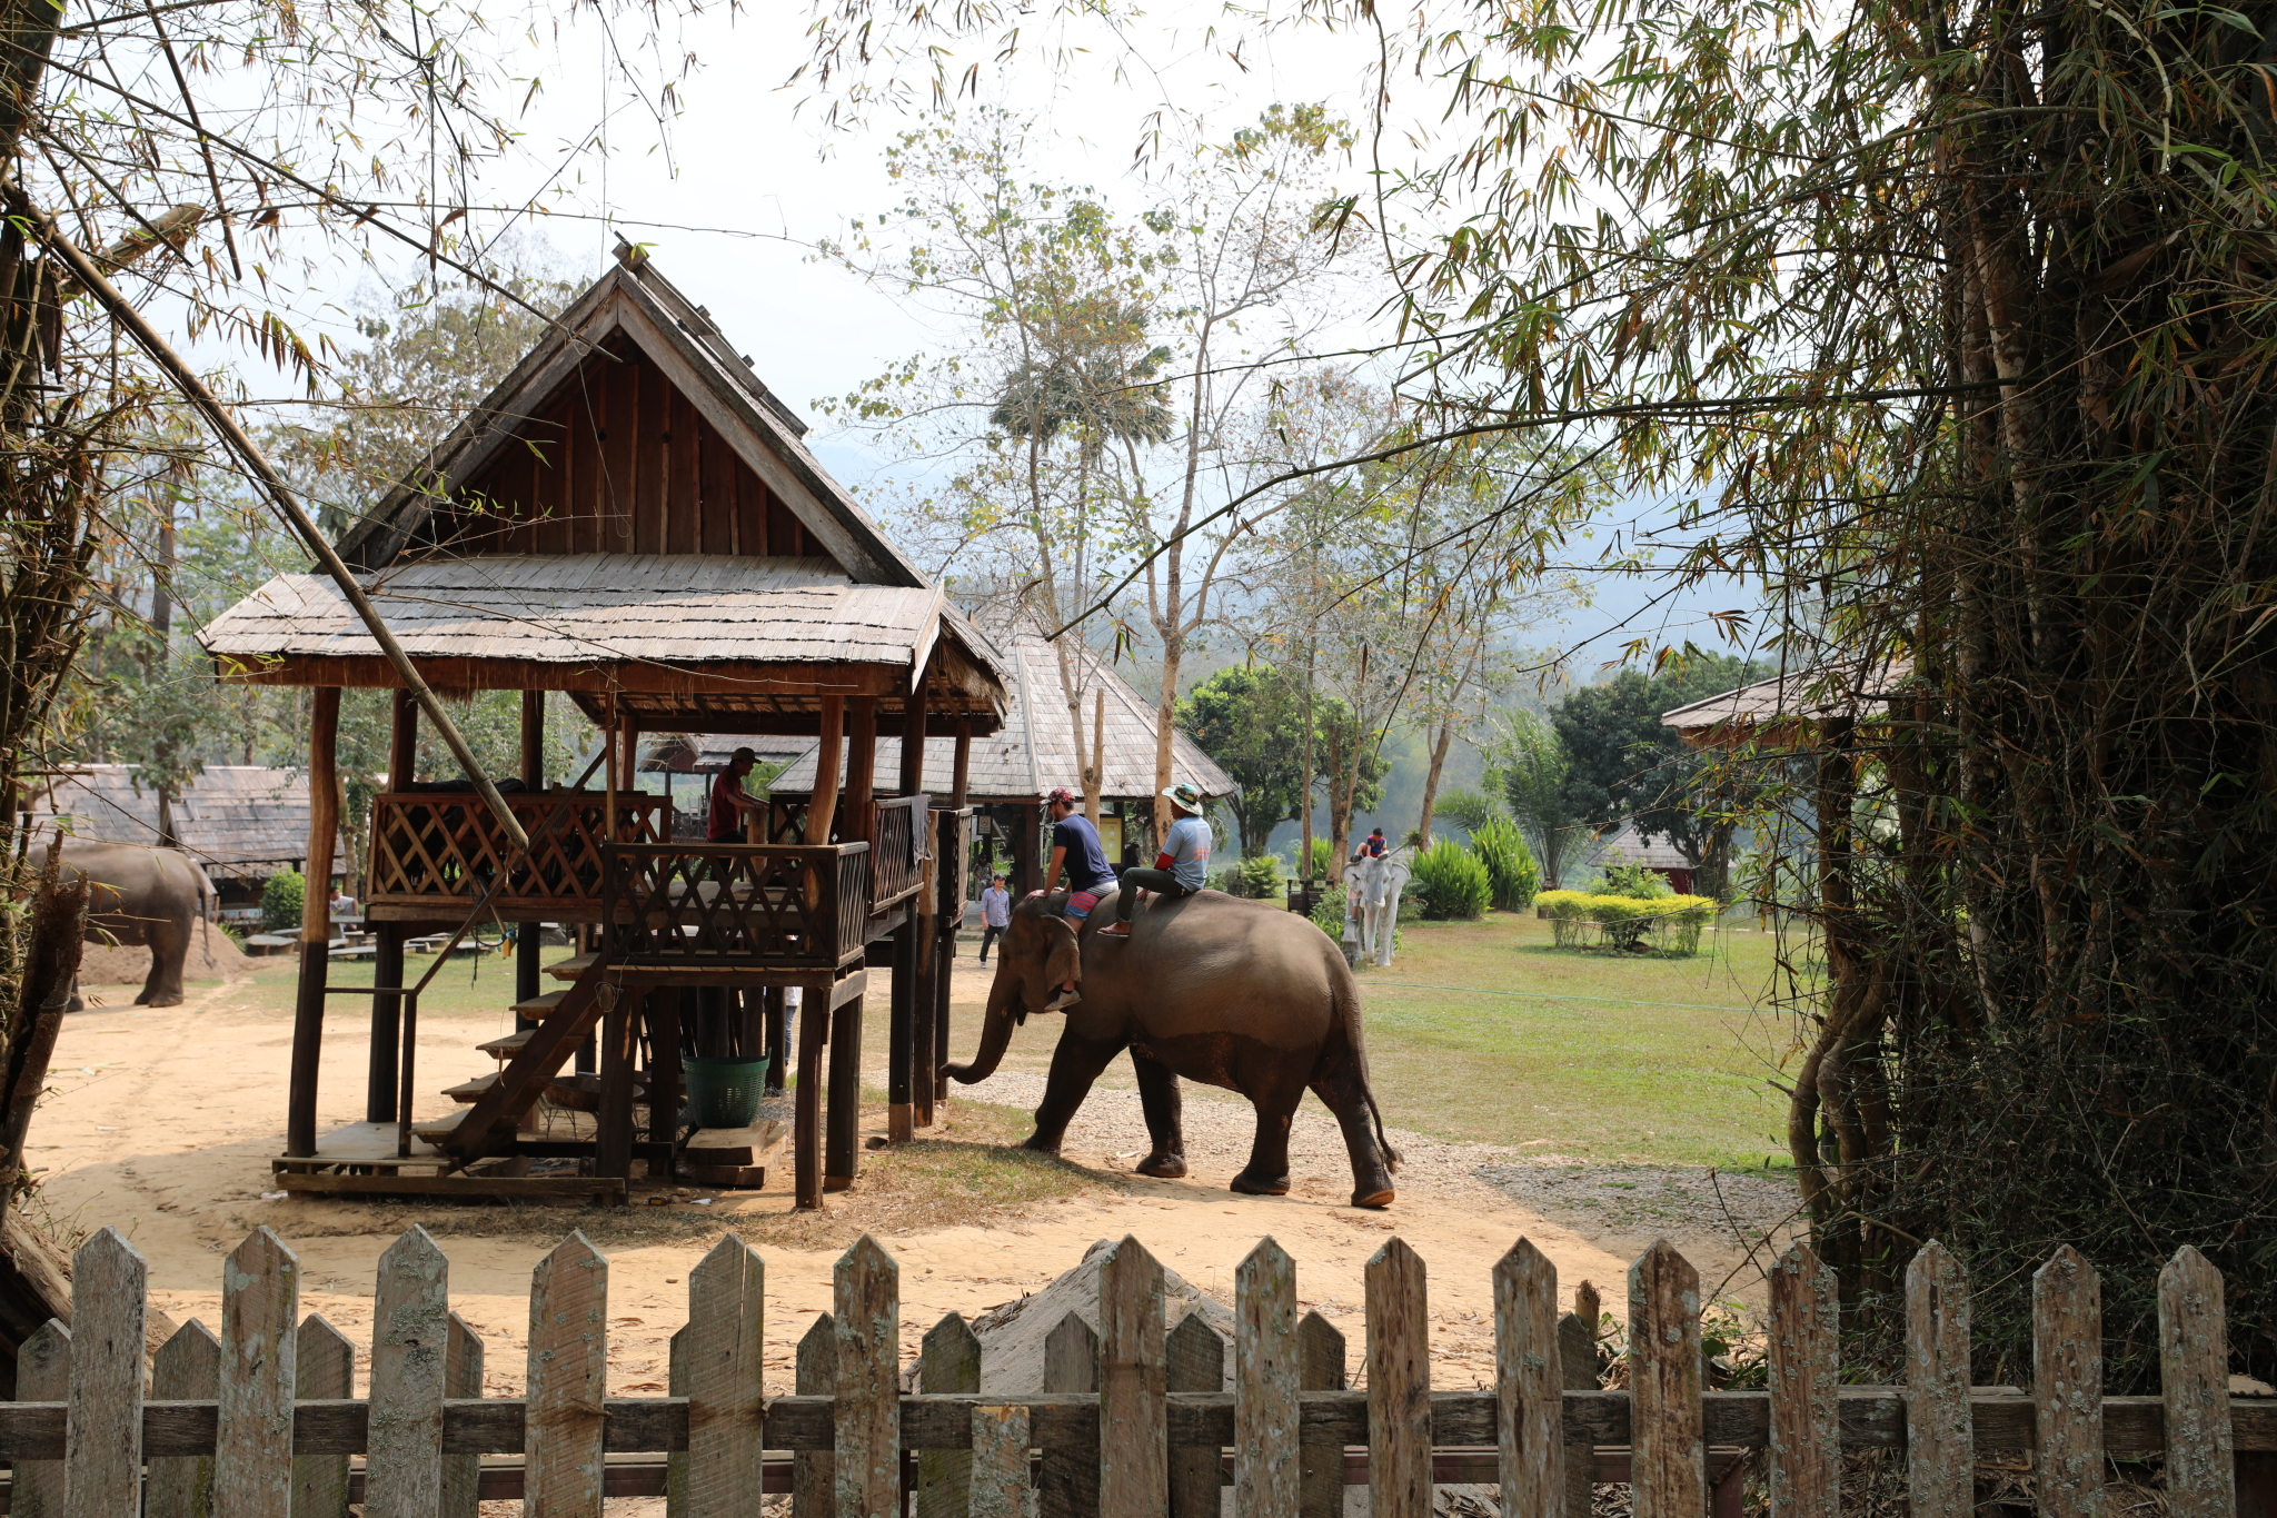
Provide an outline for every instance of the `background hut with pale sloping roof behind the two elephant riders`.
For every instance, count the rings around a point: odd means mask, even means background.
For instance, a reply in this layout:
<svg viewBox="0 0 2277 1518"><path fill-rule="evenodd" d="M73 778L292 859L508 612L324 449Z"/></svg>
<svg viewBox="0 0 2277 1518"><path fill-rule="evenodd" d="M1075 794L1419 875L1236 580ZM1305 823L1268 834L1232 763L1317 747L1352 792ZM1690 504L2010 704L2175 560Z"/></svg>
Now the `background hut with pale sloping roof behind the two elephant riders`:
<svg viewBox="0 0 2277 1518"><path fill-rule="evenodd" d="M1082 772L1075 760L1075 719L1068 712L1066 687L1059 680L1059 653L1036 628L1000 633L997 646L1011 667L1011 706L1004 724L988 737L972 742L968 797L984 808L990 844L1002 840L1011 853L1011 878L1016 890L1043 885L1043 860L1047 858L1043 838L1050 831L1043 799L1054 785L1082 790ZM1113 808L1104 817L1104 842L1109 858L1132 851L1143 853L1141 863L1152 863L1152 815L1154 815L1154 703L1141 696L1113 665L1084 651L1084 742L1093 733L1102 737L1104 765L1100 769L1100 801ZM717 744L701 744L701 758L713 758ZM881 765L899 765L899 740L879 744ZM770 794L797 801L815 785L820 746L790 762L783 774L770 781ZM929 737L924 744L924 783L945 785L956 767L954 746L947 740ZM1186 781L1205 797L1230 797L1241 790L1202 746L1173 735L1170 776ZM993 856L993 847L990 847Z"/></svg>

